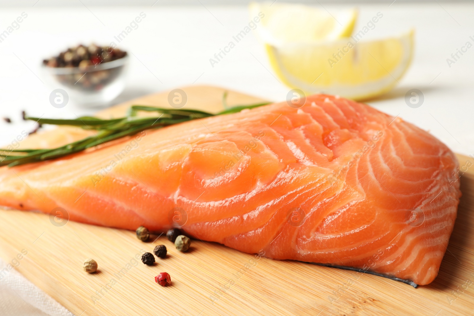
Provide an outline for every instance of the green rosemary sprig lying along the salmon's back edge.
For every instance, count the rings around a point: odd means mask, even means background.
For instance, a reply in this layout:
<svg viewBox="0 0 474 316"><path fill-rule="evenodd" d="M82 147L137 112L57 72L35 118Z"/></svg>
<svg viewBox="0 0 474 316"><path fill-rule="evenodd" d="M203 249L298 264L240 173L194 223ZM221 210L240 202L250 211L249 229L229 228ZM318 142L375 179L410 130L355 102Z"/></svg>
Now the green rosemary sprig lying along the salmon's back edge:
<svg viewBox="0 0 474 316"><path fill-rule="evenodd" d="M76 119L56 119L28 117L25 115L25 119L34 120L40 125L53 124L79 126L84 129L95 130L97 133L96 135L88 136L73 143L52 149L0 149L0 166L8 165L9 167L13 167L25 163L36 163L49 159L64 157L66 155L78 153L87 148L104 144L124 136L137 134L138 132L146 129L161 128L164 126L190 121L196 118L236 113L245 108L256 108L270 103L262 102L227 108L225 103L226 97L227 94L224 94L223 104L225 105L226 110L217 114L191 109L182 110L149 107L145 105L133 105L129 108L126 117L112 119L102 119L99 117L89 116L78 117ZM137 117L137 113L139 111L157 112L160 115L157 117Z"/></svg>

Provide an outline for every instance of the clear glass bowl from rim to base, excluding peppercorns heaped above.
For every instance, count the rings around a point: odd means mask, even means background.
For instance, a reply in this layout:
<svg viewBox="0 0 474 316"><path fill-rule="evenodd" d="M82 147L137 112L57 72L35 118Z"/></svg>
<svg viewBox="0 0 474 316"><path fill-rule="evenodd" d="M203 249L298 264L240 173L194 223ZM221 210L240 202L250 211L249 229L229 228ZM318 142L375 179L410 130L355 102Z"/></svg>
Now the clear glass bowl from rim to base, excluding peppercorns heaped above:
<svg viewBox="0 0 474 316"><path fill-rule="evenodd" d="M87 67L42 67L49 84L66 91L74 103L105 106L125 88L128 55Z"/></svg>

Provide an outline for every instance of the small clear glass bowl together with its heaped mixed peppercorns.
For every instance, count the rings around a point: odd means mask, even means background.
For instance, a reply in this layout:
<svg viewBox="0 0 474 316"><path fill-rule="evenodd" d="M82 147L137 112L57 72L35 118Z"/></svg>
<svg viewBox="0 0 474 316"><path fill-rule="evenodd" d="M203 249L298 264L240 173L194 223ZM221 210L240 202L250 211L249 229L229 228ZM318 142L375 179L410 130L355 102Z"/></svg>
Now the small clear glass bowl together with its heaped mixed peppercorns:
<svg viewBox="0 0 474 316"><path fill-rule="evenodd" d="M115 47L78 45L43 61L50 85L74 102L106 105L125 87L128 54Z"/></svg>

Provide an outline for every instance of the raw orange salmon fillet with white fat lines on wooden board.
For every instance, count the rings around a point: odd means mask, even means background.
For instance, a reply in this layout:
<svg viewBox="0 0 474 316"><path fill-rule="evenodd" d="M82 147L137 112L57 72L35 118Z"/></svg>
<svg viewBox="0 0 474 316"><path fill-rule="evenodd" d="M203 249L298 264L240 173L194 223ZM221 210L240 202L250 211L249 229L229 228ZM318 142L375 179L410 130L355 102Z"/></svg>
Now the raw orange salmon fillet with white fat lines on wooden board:
<svg viewBox="0 0 474 316"><path fill-rule="evenodd" d="M455 155L365 104L314 95L0 168L0 204L190 236L424 285L460 198ZM178 217L176 217L178 216Z"/></svg>

